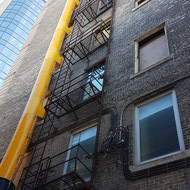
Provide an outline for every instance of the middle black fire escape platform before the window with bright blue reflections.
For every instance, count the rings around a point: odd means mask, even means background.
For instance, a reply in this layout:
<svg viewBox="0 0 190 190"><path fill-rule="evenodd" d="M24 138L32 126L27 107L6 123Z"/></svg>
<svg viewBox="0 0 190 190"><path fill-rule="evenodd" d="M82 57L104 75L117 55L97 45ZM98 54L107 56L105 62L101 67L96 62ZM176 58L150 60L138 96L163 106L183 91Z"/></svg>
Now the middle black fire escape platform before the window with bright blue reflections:
<svg viewBox="0 0 190 190"><path fill-rule="evenodd" d="M98 77L84 73L70 80L64 86L59 86L52 92L53 98L47 104L46 110L58 118L71 112L77 117L77 109L94 100L100 103L102 84Z"/></svg>

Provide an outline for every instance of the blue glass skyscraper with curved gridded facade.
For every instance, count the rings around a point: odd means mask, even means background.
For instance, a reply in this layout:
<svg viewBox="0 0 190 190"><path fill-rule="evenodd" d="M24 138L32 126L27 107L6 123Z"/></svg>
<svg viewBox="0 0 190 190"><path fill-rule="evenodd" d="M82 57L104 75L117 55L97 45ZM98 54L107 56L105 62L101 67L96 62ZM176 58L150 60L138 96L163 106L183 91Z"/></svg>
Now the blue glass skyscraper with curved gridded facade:
<svg viewBox="0 0 190 190"><path fill-rule="evenodd" d="M0 16L0 87L44 5L44 0L12 0Z"/></svg>

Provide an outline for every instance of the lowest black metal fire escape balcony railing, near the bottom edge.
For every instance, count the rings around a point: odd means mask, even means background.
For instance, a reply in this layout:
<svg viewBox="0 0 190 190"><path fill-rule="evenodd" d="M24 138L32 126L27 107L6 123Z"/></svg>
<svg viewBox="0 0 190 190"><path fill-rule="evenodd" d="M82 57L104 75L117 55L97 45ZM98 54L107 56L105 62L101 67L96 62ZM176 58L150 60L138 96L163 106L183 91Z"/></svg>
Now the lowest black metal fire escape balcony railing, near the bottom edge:
<svg viewBox="0 0 190 190"><path fill-rule="evenodd" d="M93 155L80 144L24 169L22 189L80 189L90 185ZM24 175L28 174L27 177Z"/></svg>

